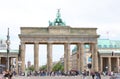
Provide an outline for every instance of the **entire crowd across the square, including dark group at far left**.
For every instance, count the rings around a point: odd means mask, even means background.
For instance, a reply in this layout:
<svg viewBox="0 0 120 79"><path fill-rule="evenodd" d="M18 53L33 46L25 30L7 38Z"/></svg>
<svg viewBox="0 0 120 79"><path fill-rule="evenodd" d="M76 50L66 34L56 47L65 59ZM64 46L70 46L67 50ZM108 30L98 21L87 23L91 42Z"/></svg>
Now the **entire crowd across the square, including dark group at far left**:
<svg viewBox="0 0 120 79"><path fill-rule="evenodd" d="M12 79L13 75L16 75L16 72L11 72L9 70L3 71L3 78L2 79ZM21 76L77 76L77 75L82 75L83 79L86 79L87 76L91 76L92 79L101 79L101 72L93 72L91 71L90 73L86 70L84 70L83 72L78 72L78 71L70 71L70 72L62 72L62 71L51 71L51 72L47 72L47 71L30 71L30 72L24 72L24 73L20 73L17 75L21 75ZM103 74L104 75L104 74ZM109 75L109 74L108 74Z"/></svg>

